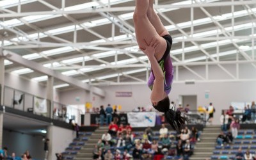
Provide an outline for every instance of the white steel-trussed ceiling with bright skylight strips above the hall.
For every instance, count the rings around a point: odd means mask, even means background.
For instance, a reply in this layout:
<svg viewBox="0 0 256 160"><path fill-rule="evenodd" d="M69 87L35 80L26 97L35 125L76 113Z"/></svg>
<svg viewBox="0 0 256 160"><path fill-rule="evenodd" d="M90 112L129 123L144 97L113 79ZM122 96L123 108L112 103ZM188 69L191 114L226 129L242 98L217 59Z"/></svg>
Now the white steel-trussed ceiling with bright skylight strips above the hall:
<svg viewBox="0 0 256 160"><path fill-rule="evenodd" d="M134 5L134 0L0 1L6 72L46 83L54 70L64 75L54 76L60 90L74 88L65 77L89 86L145 84L150 63L136 44ZM209 72L209 65L227 74L218 81L254 80L226 66L239 70L245 64L256 71L255 0L158 0L154 8L173 37L176 83L191 79L179 78L182 70L198 81L214 81L195 69Z"/></svg>

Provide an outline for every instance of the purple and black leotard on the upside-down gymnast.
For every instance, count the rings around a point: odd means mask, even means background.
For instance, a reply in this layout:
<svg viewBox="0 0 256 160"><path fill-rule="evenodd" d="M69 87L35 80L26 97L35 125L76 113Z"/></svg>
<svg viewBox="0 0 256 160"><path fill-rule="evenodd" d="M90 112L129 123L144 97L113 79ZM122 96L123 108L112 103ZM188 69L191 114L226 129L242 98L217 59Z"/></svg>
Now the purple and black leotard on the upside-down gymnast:
<svg viewBox="0 0 256 160"><path fill-rule="evenodd" d="M172 36L165 35L163 36L163 38L166 40L167 47L163 57L161 58L161 60L158 61L158 63L164 73L164 92L166 93L166 95L168 95L172 90L172 82L173 82L173 74L174 74L172 60L170 57L170 51L172 47ZM150 88L150 90L152 90L153 88L154 80L155 80L154 72L151 69L151 73L148 78L148 87Z"/></svg>

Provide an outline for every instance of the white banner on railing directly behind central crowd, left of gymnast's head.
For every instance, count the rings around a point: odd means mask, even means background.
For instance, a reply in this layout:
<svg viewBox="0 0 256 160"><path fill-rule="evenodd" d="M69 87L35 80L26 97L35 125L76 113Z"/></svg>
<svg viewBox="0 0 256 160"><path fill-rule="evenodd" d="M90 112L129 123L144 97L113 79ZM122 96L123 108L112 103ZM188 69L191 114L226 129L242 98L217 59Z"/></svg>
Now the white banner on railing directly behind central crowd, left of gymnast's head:
<svg viewBox="0 0 256 160"><path fill-rule="evenodd" d="M154 127L156 124L156 112L129 112L127 117L131 127Z"/></svg>

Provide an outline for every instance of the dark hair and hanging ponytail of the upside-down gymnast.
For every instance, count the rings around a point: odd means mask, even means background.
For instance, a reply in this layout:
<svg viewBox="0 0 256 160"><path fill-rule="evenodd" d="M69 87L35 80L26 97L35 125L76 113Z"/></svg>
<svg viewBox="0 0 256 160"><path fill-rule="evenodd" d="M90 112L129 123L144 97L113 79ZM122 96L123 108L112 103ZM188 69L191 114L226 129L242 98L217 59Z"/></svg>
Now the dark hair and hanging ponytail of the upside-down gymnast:
<svg viewBox="0 0 256 160"><path fill-rule="evenodd" d="M169 97L165 97L163 100L159 101L156 106L153 105L153 107L159 111L163 112L166 121L172 126L172 128L179 132L183 127L187 119L183 116L181 116L180 111L175 111L173 107L170 109L170 100Z"/></svg>

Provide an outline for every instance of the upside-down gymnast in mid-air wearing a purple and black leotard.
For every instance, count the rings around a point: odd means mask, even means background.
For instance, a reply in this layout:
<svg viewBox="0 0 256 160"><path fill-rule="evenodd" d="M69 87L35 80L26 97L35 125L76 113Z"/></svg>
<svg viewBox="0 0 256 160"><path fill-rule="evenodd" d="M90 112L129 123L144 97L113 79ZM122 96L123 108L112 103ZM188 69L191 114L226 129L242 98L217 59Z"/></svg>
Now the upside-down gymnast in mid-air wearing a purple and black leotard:
<svg viewBox="0 0 256 160"><path fill-rule="evenodd" d="M151 63L148 87L152 90L152 106L164 113L166 121L175 131L180 131L186 118L180 115L180 111L175 111L175 108L170 109L168 97L172 90L174 72L170 57L172 36L154 11L153 3L154 0L136 0L133 15L136 39Z"/></svg>

